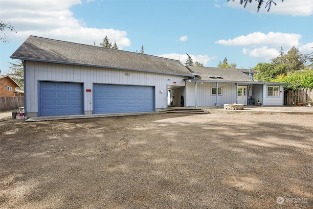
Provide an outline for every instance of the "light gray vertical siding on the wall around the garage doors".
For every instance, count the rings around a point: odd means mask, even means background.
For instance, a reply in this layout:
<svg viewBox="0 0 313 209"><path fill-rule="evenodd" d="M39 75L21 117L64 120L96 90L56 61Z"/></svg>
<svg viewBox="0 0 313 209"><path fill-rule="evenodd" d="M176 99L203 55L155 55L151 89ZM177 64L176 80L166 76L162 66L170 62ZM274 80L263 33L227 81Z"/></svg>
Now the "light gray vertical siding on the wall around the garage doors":
<svg viewBox="0 0 313 209"><path fill-rule="evenodd" d="M126 75L128 72L131 75ZM176 81L177 86L184 86L184 78L186 77L151 72L26 61L25 79L27 82L25 91L27 91L27 98L25 111L38 113L39 81L80 82L83 83L84 91L91 89L92 92L94 83L154 86L156 91L155 107L159 109L167 106L166 92L169 79ZM162 94L160 90L163 91ZM84 92L85 112L92 111L92 102L92 93Z"/></svg>

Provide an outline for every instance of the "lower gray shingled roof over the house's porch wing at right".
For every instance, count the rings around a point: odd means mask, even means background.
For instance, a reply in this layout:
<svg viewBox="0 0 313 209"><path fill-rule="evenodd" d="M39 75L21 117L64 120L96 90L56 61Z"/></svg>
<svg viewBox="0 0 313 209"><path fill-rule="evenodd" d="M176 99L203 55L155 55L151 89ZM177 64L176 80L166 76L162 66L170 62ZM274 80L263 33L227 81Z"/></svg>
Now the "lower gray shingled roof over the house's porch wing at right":
<svg viewBox="0 0 313 209"><path fill-rule="evenodd" d="M249 70L246 69L231 69L231 68L210 68L210 67L195 67L188 66L190 70L195 72L196 79L202 81L214 81L214 82L257 82L250 81L249 76L246 73L249 73ZM255 71L252 71L255 73ZM217 75L220 78L217 78ZM211 77L210 77L211 76Z"/></svg>

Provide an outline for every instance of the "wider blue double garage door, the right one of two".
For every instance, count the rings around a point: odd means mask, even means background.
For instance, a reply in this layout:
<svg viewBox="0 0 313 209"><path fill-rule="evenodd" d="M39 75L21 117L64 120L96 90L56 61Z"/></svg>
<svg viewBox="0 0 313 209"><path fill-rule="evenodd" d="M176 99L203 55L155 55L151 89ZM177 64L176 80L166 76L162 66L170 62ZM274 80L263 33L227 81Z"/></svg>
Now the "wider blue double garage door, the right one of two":
<svg viewBox="0 0 313 209"><path fill-rule="evenodd" d="M93 113L152 112L154 87L94 84Z"/></svg>

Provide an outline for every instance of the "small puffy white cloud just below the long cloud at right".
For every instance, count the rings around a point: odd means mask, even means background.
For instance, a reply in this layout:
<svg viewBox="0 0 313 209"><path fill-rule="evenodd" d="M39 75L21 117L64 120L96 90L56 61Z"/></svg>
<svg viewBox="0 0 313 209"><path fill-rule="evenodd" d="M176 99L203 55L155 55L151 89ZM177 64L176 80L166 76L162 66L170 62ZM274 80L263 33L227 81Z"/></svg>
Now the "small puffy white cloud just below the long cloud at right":
<svg viewBox="0 0 313 209"><path fill-rule="evenodd" d="M267 46L249 49L243 48L243 54L247 54L249 57L270 60L279 55L279 51L275 48L268 48Z"/></svg>

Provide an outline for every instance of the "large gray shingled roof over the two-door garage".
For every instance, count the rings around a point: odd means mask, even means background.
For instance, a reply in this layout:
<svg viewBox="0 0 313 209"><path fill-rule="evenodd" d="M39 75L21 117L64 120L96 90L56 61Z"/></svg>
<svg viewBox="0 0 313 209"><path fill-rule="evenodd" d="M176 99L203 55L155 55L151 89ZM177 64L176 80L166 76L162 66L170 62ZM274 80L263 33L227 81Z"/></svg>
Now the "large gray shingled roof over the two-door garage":
<svg viewBox="0 0 313 209"><path fill-rule="evenodd" d="M10 58L192 76L178 60L36 36L29 36Z"/></svg>

